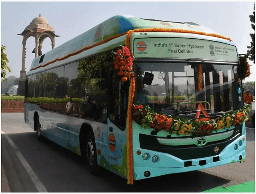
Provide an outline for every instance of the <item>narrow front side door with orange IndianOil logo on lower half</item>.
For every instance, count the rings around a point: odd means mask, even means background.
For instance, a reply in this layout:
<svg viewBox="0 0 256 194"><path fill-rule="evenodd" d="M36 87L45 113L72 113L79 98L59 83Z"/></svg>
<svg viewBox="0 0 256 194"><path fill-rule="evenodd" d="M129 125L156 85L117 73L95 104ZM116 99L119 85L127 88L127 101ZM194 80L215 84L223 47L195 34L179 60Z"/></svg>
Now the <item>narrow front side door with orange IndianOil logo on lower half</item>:
<svg viewBox="0 0 256 194"><path fill-rule="evenodd" d="M128 91L129 81L122 82L116 70L112 68L108 93L108 164L110 170L125 177Z"/></svg>

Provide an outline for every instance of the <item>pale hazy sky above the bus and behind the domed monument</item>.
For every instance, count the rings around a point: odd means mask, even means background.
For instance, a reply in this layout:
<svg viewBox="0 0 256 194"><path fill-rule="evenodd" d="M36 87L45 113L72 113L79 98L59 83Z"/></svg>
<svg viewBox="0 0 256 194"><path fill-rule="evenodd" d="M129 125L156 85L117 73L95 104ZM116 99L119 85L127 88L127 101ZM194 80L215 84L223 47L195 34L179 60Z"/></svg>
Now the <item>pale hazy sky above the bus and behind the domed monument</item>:
<svg viewBox="0 0 256 194"><path fill-rule="evenodd" d="M137 18L194 22L231 38L239 54L247 53L251 28L249 15L254 2L1 2L1 44L6 46L8 66L12 72L7 77L20 77L22 68L21 34L30 22L41 14L54 28L56 46L86 32L101 22L116 15L131 15ZM30 69L35 48L34 37L26 42L26 71ZM43 43L42 53L52 49L50 38ZM251 73L246 81L254 81L254 63L249 61Z"/></svg>

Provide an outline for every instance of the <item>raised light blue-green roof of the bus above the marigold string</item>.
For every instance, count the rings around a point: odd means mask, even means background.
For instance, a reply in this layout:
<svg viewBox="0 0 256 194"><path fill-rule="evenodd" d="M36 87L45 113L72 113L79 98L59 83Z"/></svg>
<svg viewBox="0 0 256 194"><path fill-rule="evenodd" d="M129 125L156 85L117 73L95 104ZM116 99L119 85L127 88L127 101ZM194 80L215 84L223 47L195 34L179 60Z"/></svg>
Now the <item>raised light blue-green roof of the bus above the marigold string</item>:
<svg viewBox="0 0 256 194"><path fill-rule="evenodd" d="M92 45L95 45L100 42L104 42L112 37L118 36L120 34L126 33L129 30L135 29L145 29L145 28L172 28L172 29L182 29L182 30L192 30L198 32L205 33L214 33L218 34L209 28L200 26L193 22L168 22L168 21L160 21L160 20L150 20L150 19L141 19L133 16L114 16L105 20L101 24L98 24L94 28L84 32L83 34L69 40L68 42L56 47L45 53L42 56L35 58L32 61L32 65L30 69L35 69L38 66L43 66L47 64L49 61L54 61L55 59L63 58L70 53L75 53L80 51L82 48L88 48ZM124 37L122 39L116 39L116 44L124 44ZM113 44L113 42L112 42ZM119 46L118 45L118 46ZM94 52L97 52L94 51ZM89 52L90 53L90 52ZM86 53L87 56L88 52ZM68 62L71 59L63 62ZM74 59L73 59L74 60ZM49 67L58 65L60 63L55 63L50 65ZM42 70L40 68L40 70ZM29 71L27 74L34 73L34 71Z"/></svg>

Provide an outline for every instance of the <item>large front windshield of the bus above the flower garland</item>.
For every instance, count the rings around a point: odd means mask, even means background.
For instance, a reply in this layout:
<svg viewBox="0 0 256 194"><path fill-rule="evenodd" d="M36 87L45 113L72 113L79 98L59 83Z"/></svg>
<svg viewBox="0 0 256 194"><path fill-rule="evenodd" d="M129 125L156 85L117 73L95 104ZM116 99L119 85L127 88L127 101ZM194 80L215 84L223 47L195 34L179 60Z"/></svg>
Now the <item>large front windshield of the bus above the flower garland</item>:
<svg viewBox="0 0 256 194"><path fill-rule="evenodd" d="M201 102L210 116L242 107L242 85L236 65L136 62L134 104L156 113L194 119ZM154 74L143 84L145 72Z"/></svg>

